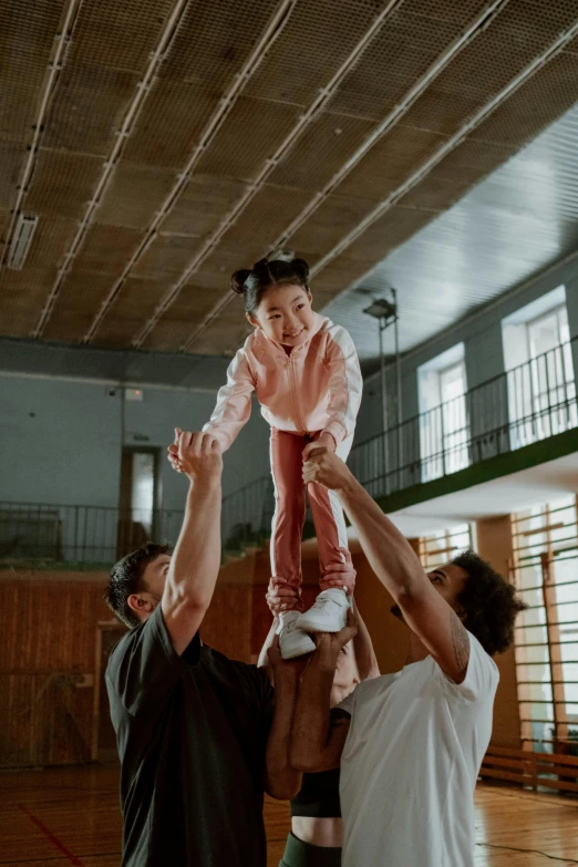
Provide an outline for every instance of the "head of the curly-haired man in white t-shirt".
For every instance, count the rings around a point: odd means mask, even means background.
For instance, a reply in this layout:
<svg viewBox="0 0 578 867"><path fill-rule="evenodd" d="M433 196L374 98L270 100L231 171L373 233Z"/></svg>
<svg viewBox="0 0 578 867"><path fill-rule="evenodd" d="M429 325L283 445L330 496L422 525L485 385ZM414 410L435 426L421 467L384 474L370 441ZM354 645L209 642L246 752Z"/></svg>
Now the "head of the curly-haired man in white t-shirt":
<svg viewBox="0 0 578 867"><path fill-rule="evenodd" d="M472 550L427 574L486 653L503 653L514 641L514 622L526 605L515 588ZM400 616L399 606L392 612Z"/></svg>

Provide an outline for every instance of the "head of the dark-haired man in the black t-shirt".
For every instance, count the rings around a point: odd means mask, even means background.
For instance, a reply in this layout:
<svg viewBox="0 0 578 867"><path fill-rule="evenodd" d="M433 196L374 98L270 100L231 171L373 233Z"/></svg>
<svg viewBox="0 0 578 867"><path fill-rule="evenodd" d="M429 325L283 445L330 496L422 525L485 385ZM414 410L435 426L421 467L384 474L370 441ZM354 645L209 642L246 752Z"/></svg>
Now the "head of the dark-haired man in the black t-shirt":
<svg viewBox="0 0 578 867"><path fill-rule="evenodd" d="M104 599L127 627L151 617L163 598L169 565L171 547L148 541L113 566Z"/></svg>

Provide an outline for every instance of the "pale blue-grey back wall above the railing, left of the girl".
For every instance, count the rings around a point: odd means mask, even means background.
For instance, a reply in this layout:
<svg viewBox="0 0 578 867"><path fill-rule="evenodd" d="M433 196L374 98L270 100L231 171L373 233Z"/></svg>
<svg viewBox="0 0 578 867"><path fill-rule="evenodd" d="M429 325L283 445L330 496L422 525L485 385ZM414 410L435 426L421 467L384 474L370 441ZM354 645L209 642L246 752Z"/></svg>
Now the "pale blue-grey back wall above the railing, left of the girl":
<svg viewBox="0 0 578 867"><path fill-rule="evenodd" d="M121 451L166 448L173 429L198 430L214 393L144 388L142 403L104 383L0 372L0 499L116 506ZM124 422L123 422L124 410ZM225 458L224 493L269 472L269 426L252 417ZM183 505L186 482L163 456L163 506Z"/></svg>

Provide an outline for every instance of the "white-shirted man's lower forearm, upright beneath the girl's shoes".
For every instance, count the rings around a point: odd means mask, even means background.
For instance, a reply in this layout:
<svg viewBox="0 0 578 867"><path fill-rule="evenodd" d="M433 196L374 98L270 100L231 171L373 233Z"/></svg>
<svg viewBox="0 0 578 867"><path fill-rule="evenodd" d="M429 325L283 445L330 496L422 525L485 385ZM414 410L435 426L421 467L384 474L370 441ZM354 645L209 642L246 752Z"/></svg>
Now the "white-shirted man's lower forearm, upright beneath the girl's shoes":
<svg viewBox="0 0 578 867"><path fill-rule="evenodd" d="M317 650L302 677L289 752L291 765L299 771L316 771L323 764L336 665L337 658Z"/></svg>

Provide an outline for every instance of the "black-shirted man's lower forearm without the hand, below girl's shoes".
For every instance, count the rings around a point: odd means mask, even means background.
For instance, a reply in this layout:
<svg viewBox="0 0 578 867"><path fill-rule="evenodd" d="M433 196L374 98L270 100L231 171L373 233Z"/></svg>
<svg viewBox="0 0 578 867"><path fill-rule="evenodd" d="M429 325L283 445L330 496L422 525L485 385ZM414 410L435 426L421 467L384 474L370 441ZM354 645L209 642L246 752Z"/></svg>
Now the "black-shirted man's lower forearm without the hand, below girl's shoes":
<svg viewBox="0 0 578 867"><path fill-rule="evenodd" d="M297 674L277 678L275 713L267 740L266 788L269 795L283 801L293 797L301 786L301 774L289 762L289 741L298 690Z"/></svg>

